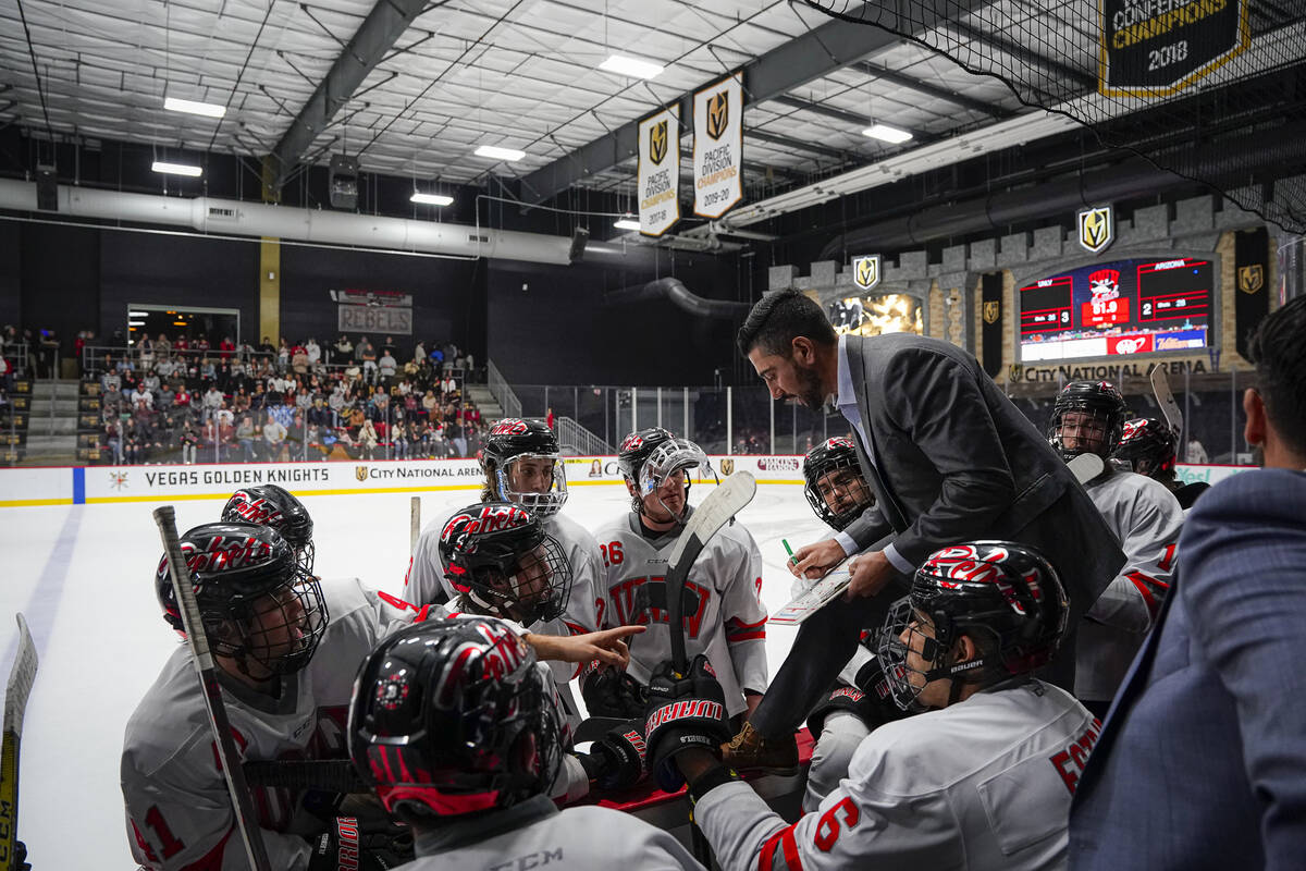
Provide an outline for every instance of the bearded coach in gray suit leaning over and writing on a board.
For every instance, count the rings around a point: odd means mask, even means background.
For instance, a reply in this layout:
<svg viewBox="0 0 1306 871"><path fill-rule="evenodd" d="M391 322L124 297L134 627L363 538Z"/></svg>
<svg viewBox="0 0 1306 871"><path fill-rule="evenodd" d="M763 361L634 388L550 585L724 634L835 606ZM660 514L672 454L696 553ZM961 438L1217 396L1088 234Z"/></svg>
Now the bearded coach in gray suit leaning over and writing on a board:
<svg viewBox="0 0 1306 871"><path fill-rule="evenodd" d="M763 739L801 722L859 631L879 626L891 597L876 593L939 547L1002 538L1038 548L1062 575L1071 627L1123 565L1101 515L1047 439L963 349L902 333L837 337L820 307L795 291L757 302L738 345L772 398L810 409L828 398L838 407L875 492L875 505L845 533L794 555L795 573L820 577L859 554L850 601L803 624L752 716ZM1058 661L1058 683L1066 683L1072 652Z"/></svg>

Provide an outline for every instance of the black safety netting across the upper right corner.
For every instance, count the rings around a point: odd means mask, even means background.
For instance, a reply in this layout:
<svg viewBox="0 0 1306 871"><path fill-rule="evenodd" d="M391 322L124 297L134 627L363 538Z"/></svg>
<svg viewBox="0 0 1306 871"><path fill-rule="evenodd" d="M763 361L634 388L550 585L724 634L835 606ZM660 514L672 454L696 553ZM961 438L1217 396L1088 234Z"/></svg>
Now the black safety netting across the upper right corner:
<svg viewBox="0 0 1306 871"><path fill-rule="evenodd" d="M1306 0L804 0L1306 232Z"/></svg>

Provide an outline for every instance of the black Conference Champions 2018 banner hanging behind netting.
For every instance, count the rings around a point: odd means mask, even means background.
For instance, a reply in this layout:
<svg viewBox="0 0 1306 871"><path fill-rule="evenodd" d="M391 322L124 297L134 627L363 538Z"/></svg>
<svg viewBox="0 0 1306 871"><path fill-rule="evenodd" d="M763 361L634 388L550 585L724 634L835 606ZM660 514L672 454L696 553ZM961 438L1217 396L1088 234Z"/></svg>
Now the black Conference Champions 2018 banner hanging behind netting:
<svg viewBox="0 0 1306 871"><path fill-rule="evenodd" d="M1100 0L1098 91L1166 97L1251 44L1249 0Z"/></svg>

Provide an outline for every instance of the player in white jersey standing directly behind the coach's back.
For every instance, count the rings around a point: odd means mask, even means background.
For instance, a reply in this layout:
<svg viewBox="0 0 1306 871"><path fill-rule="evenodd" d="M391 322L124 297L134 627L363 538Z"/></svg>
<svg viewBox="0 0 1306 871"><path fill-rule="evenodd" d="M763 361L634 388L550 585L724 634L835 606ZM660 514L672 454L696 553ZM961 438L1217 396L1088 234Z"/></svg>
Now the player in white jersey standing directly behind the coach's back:
<svg viewBox="0 0 1306 871"><path fill-rule="evenodd" d="M1105 461L1121 439L1126 413L1114 385L1071 381L1053 404L1047 435L1067 461L1081 453ZM1110 464L1084 490L1126 556L1119 575L1088 610L1075 646L1075 695L1105 717L1170 588L1183 511L1158 481L1115 471Z"/></svg>

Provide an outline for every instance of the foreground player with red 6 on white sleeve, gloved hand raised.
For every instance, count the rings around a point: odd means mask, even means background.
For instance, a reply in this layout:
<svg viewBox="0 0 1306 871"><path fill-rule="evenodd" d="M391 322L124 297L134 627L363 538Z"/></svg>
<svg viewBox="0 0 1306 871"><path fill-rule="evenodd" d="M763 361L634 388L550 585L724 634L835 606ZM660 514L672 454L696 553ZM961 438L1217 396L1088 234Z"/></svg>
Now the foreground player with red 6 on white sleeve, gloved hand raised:
<svg viewBox="0 0 1306 871"><path fill-rule="evenodd" d="M879 657L914 717L872 731L848 778L788 825L713 752L720 688L701 669L650 686L649 768L690 784L725 871L1066 866L1079 770L1100 723L1030 676L1066 628L1066 593L1038 554L970 542L932 554L889 610ZM670 665L670 663L669 663Z"/></svg>

